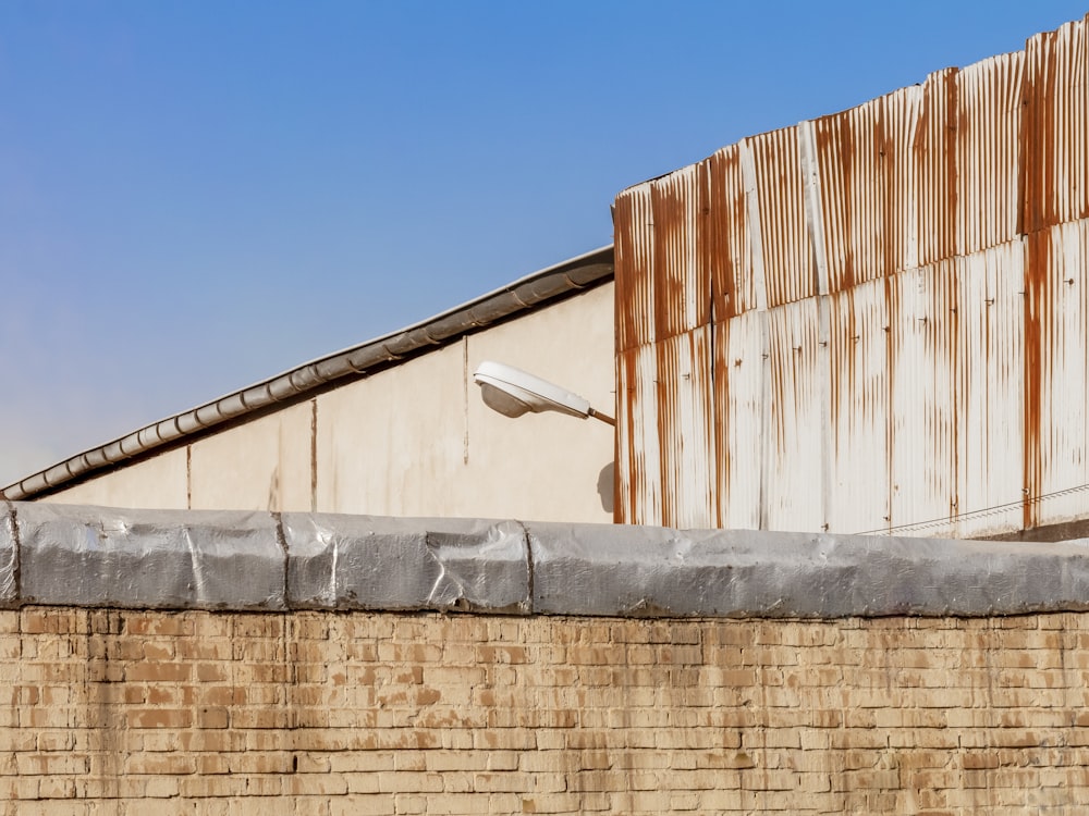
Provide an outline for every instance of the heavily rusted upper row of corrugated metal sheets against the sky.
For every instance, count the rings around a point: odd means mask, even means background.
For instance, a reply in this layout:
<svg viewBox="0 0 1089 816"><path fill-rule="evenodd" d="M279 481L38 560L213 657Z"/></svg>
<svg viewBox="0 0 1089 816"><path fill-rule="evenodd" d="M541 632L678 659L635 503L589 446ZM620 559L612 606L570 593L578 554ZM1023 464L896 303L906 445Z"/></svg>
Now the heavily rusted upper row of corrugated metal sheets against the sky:
<svg viewBox="0 0 1089 816"><path fill-rule="evenodd" d="M1087 41L1089 25L1069 23L1026 51L935 72L622 191L616 244L629 251L617 284L639 294L621 298L632 307L617 311L631 326L621 347L686 331L701 316L685 298L660 302L670 299L661 285L677 282L661 268L673 258L683 256L700 293L710 287L721 321L761 299L811 296L811 234L835 292L1089 218ZM819 191L822 217L809 228L804 184ZM646 308L639 297L651 292Z"/></svg>

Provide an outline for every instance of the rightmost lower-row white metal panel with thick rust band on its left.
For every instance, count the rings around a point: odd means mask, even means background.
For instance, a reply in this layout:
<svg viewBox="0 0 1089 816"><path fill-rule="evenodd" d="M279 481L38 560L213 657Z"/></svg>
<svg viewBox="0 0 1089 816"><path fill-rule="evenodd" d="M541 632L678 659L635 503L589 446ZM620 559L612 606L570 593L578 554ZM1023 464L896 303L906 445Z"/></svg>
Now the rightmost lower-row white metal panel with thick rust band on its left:
<svg viewBox="0 0 1089 816"><path fill-rule="evenodd" d="M1084 517L1089 493L1089 222L1028 238L1025 311L1026 526Z"/></svg>

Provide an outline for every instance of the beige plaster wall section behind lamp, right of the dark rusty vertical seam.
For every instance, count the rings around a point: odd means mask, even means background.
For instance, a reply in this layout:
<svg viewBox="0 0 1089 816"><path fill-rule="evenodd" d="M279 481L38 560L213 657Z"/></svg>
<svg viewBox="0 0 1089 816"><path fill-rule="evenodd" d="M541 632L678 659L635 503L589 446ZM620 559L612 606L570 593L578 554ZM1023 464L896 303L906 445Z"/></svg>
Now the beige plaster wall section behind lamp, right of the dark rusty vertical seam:
<svg viewBox="0 0 1089 816"><path fill-rule="evenodd" d="M612 521L613 431L503 417L472 382L492 359L613 411L612 284L318 397L317 503L332 512Z"/></svg>

